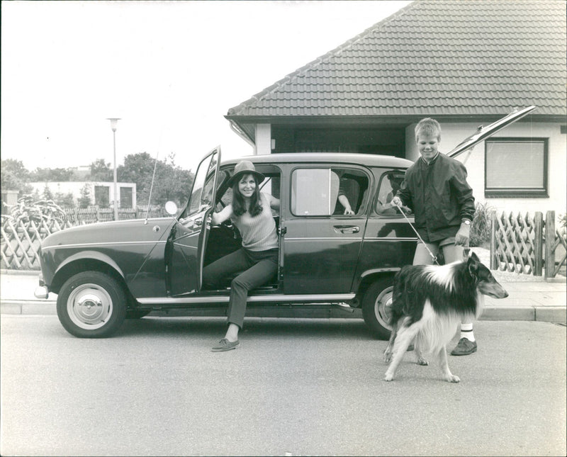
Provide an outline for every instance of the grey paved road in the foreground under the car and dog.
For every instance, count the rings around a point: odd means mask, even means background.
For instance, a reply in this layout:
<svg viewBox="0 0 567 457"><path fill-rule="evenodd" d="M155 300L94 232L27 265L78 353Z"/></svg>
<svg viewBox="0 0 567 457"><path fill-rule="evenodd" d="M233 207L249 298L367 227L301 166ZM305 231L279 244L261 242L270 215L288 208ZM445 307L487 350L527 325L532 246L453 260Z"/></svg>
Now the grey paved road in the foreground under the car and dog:
<svg viewBox="0 0 567 457"><path fill-rule="evenodd" d="M393 383L357 320L145 318L76 339L1 316L2 456L566 455L566 327L478 322L460 384L408 354Z"/></svg>

